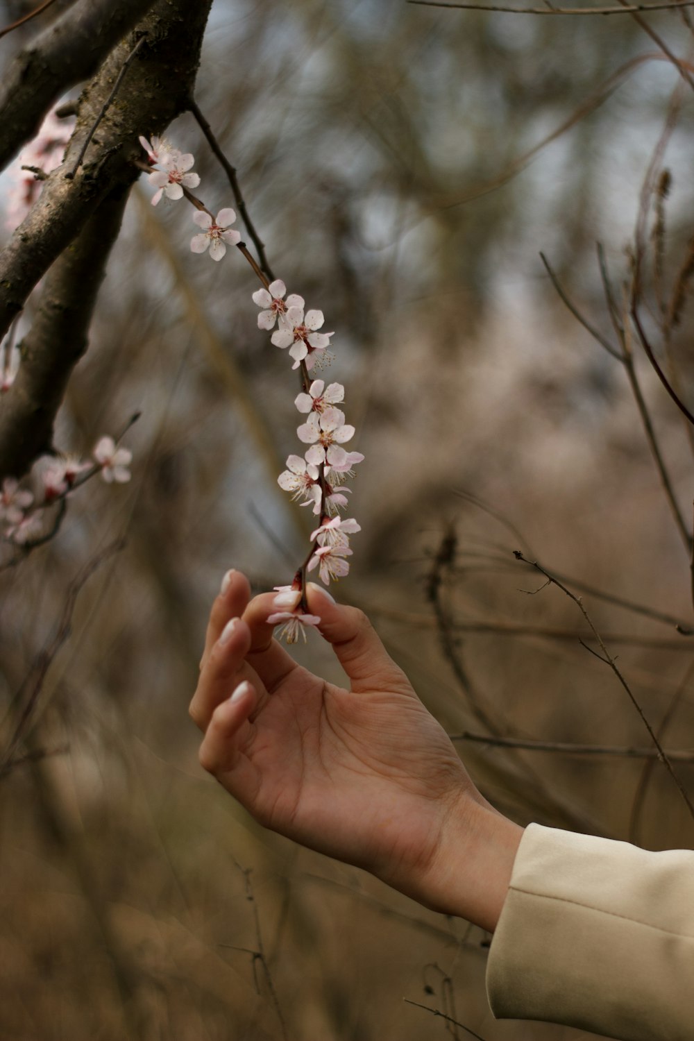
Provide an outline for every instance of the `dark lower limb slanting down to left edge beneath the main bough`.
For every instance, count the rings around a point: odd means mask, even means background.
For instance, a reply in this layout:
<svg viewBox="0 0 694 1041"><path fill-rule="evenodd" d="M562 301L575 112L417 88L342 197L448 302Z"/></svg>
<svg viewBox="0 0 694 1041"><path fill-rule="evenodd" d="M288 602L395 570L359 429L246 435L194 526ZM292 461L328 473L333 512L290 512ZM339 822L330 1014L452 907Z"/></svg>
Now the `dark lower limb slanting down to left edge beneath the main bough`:
<svg viewBox="0 0 694 1041"><path fill-rule="evenodd" d="M51 449L53 422L87 333L126 188L108 196L46 277L38 311L21 344L22 364L0 410L0 477L19 477Z"/></svg>

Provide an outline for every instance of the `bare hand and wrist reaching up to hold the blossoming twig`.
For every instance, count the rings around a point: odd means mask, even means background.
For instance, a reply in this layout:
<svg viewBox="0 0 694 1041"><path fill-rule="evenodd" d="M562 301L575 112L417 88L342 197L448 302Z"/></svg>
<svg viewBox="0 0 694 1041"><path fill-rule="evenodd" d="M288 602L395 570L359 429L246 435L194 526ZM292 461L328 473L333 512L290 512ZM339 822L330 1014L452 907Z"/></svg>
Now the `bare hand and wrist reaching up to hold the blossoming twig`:
<svg viewBox="0 0 694 1041"><path fill-rule="evenodd" d="M309 584L346 690L273 638L275 593L251 600L239 572L223 586L190 703L203 767L265 828L493 932L522 829L477 790L366 616Z"/></svg>

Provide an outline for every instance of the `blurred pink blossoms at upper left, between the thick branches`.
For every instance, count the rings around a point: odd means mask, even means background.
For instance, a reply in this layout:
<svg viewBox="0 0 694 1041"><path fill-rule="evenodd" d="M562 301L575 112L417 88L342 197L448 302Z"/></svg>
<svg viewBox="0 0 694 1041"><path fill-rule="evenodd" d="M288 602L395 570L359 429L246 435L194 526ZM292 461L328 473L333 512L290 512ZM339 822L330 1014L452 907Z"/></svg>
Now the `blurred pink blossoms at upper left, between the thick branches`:
<svg viewBox="0 0 694 1041"><path fill-rule="evenodd" d="M42 174L50 174L62 162L74 125L74 119L58 119L54 111L49 112L36 136L9 167L5 214L8 231L22 223L41 195Z"/></svg>

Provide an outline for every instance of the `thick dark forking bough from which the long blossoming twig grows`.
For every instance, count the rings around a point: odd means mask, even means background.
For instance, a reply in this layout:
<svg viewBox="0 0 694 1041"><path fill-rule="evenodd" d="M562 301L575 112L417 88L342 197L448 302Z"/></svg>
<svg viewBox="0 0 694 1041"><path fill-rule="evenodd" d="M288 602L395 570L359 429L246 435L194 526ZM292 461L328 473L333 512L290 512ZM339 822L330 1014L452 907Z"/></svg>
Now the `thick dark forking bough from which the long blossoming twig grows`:
<svg viewBox="0 0 694 1041"><path fill-rule="evenodd" d="M65 162L47 179L37 202L0 253L0 336L22 309L36 282L93 220L93 229L85 242L92 243L88 247L92 253L98 248L103 201L127 194L138 176L133 162L142 152L137 135L160 132L186 108L210 4L211 0L200 0L191 7L187 0L157 0L135 31L113 49L94 82L82 93L77 126ZM66 173L74 169L84 139L111 94L124 62L142 36L146 42L128 69L118 102L104 115L98 135L92 141L74 179L67 178ZM98 213L102 215L97 217ZM105 232L103 228L102 233ZM106 247L106 252L108 245L109 240L102 234L101 247ZM84 294L86 306L78 308L74 299L75 276L69 273L73 263L77 266L84 263L84 249L86 246L77 249L81 259L77 256L66 258L51 280L53 285L59 284L70 299L60 301L53 290L53 302L47 302L47 310L40 320L43 324L33 337L33 342L44 346L34 349L31 372L26 377L18 376L16 384L3 396L2 411L7 418L3 417L0 425L0 474L20 476L35 457L35 452L50 441L59 401L48 391L46 376L38 374L51 372L55 377L61 373L59 390L62 391L65 379L84 348L86 325L82 320L88 318L94 295L103 277L103 264L100 264L101 272L95 273L96 278L89 280L91 288ZM70 331L67 349L59 335L49 335L46 325L52 313L52 323L57 322L65 331L66 322L59 313L63 305L76 307L82 316L78 328ZM29 337L29 347L32 347L32 337ZM38 387L43 388L42 393L48 393L46 401L36 399ZM29 433L29 426L36 423L36 407L44 413L34 435Z"/></svg>

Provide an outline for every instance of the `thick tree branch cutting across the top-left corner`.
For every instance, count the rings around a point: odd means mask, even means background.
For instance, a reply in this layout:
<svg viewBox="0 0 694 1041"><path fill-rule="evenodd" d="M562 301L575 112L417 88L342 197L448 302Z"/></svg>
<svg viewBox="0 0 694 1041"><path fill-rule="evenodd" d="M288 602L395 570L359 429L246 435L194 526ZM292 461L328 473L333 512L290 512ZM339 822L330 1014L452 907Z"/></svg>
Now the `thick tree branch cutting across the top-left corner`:
<svg viewBox="0 0 694 1041"><path fill-rule="evenodd" d="M0 169L35 136L53 102L93 76L153 0L81 0L20 51L0 86Z"/></svg>

